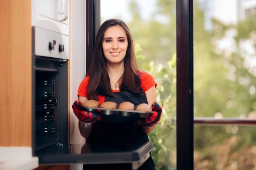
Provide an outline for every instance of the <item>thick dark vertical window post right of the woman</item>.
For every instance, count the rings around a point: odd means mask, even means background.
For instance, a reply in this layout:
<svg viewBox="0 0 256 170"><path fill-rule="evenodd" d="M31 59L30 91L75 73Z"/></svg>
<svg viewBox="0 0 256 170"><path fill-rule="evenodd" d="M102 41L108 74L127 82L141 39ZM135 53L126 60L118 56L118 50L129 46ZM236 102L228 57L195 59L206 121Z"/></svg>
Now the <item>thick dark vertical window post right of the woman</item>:
<svg viewBox="0 0 256 170"><path fill-rule="evenodd" d="M176 1L177 170L194 168L193 0Z"/></svg>

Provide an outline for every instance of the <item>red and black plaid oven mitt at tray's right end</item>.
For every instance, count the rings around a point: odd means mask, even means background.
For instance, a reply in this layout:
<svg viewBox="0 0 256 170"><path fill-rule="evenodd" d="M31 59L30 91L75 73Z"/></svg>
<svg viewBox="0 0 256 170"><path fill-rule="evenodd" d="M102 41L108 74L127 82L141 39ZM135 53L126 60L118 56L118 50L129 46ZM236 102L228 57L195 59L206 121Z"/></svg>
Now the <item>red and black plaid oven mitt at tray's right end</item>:
<svg viewBox="0 0 256 170"><path fill-rule="evenodd" d="M152 105L152 111L148 118L140 118L137 120L139 125L143 125L145 127L152 127L157 125L162 116L163 107L160 106L157 102L154 102Z"/></svg>

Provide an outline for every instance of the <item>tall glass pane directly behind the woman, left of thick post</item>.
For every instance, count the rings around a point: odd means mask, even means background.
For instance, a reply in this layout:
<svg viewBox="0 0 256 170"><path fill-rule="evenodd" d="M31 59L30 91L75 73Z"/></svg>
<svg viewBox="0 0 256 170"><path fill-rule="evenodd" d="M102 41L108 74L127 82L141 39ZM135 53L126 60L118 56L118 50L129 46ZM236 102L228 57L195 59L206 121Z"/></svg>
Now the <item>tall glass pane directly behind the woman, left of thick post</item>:
<svg viewBox="0 0 256 170"><path fill-rule="evenodd" d="M149 134L158 170L176 166L176 0L101 0L101 23L123 20L134 37L139 69L157 82L157 102L165 109ZM169 119L170 118L170 119Z"/></svg>

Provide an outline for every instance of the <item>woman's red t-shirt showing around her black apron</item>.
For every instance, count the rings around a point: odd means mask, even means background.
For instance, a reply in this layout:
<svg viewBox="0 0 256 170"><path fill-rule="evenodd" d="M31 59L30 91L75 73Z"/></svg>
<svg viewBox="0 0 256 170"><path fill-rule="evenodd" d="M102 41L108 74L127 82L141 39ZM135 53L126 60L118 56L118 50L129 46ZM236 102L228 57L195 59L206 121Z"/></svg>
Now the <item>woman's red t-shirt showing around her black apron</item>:
<svg viewBox="0 0 256 170"><path fill-rule="evenodd" d="M140 81L141 81L141 87L144 92L148 91L151 87L155 86L157 87L157 83L155 82L154 78L146 73L145 71L140 71ZM79 96L87 97L87 85L89 82L90 76L85 77L78 89ZM112 90L113 92L120 92L120 90ZM99 102L103 103L105 101L105 96L99 95Z"/></svg>

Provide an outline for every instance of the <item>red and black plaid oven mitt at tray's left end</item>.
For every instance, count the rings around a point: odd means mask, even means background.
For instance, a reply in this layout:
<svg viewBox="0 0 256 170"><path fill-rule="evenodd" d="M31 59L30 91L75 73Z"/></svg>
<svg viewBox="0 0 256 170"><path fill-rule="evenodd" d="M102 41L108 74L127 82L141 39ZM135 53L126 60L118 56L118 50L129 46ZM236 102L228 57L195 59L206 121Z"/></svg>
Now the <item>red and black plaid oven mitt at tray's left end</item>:
<svg viewBox="0 0 256 170"><path fill-rule="evenodd" d="M89 112L89 111L81 111L79 110L79 107L82 105L82 103L79 100L76 100L74 104L72 105L73 111L76 115L76 117L82 122L82 123L90 123L93 121L100 120L100 113L99 112Z"/></svg>

